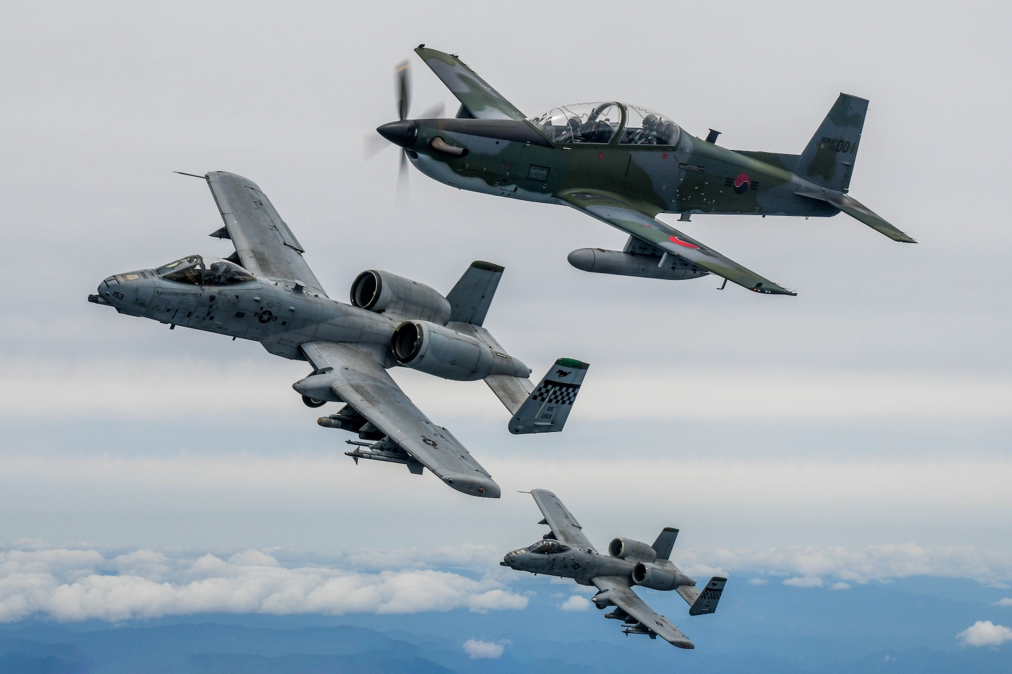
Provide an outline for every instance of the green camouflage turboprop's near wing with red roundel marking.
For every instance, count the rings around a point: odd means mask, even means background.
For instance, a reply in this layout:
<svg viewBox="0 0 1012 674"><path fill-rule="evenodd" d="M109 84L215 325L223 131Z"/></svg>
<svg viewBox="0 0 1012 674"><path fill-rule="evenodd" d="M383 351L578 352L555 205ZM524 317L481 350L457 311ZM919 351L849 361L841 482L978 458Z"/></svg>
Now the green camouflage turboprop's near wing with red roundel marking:
<svg viewBox="0 0 1012 674"><path fill-rule="evenodd" d="M669 255L677 255L733 283L767 294L797 294L768 278L746 269L695 239L665 225L643 210L597 190L576 189L557 194L559 198L637 239L657 246ZM663 258L662 258L663 260Z"/></svg>

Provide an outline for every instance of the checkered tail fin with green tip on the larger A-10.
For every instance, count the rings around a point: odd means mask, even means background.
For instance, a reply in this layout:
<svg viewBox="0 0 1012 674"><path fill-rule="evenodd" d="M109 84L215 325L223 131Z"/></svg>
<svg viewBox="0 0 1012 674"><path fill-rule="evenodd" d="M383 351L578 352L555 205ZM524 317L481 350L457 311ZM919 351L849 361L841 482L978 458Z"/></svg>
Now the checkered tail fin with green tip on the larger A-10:
<svg viewBox="0 0 1012 674"><path fill-rule="evenodd" d="M509 432L518 435L561 431L580 393L587 367L587 363L573 358L557 360L510 419Z"/></svg>

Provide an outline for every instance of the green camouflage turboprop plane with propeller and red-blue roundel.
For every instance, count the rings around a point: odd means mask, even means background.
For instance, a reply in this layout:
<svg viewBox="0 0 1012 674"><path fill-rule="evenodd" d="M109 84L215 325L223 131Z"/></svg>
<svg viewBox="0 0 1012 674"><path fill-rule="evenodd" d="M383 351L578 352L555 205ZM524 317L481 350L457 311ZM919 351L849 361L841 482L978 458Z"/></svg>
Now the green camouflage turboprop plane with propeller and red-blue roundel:
<svg viewBox="0 0 1012 674"><path fill-rule="evenodd" d="M439 182L497 196L561 203L629 235L622 251L569 255L584 271L723 276L756 292L796 294L657 220L661 213L826 218L841 210L894 241L916 243L847 194L868 101L840 94L800 155L736 152L683 132L652 110L615 101L554 107L528 117L456 56L415 52L460 101L453 118L400 120L376 131ZM725 281L727 284L727 281ZM723 287L723 285L722 285Z"/></svg>

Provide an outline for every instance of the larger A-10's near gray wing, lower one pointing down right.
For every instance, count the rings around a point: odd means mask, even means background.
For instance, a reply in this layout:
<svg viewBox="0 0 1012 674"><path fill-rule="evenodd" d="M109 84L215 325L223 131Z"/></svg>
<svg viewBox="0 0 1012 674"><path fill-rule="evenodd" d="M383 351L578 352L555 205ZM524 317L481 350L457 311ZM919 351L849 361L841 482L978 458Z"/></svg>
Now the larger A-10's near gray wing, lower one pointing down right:
<svg viewBox="0 0 1012 674"><path fill-rule="evenodd" d="M331 390L387 435L378 447L373 445L381 454L408 462L396 458L403 451L457 491L499 498L499 485L492 476L448 430L415 407L371 354L334 342L309 342L302 349L319 375L332 378ZM371 458L368 453L363 452Z"/></svg>

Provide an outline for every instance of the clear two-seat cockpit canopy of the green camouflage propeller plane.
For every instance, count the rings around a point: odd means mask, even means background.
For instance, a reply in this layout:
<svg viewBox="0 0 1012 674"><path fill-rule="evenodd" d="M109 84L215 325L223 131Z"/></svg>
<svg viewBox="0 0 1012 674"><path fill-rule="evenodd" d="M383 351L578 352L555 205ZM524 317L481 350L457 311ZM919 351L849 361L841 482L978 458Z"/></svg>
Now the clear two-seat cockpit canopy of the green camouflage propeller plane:
<svg viewBox="0 0 1012 674"><path fill-rule="evenodd" d="M560 144L610 143L619 134L623 145L676 145L681 135L660 112L614 101L560 105L528 121Z"/></svg>

